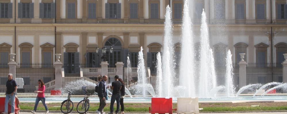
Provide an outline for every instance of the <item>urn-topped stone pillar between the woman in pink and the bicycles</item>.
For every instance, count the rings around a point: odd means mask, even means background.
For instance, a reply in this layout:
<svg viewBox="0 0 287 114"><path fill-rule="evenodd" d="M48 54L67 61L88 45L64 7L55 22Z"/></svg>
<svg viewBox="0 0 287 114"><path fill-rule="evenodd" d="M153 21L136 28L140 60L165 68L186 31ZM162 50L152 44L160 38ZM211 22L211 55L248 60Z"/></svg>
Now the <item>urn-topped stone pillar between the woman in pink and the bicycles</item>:
<svg viewBox="0 0 287 114"><path fill-rule="evenodd" d="M56 62L54 63L55 65L55 89L54 90L61 90L62 88L62 83L63 83L63 78L64 75L62 76L62 66L63 63L60 61L60 56L62 54L55 54L56 55Z"/></svg>

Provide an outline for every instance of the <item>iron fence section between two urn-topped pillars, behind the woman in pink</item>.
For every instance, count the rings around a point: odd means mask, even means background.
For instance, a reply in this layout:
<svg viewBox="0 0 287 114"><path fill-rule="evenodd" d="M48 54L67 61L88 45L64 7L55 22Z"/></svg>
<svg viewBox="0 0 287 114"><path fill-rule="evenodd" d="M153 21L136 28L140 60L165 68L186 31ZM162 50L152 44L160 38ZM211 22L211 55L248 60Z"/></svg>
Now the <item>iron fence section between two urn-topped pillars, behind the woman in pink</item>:
<svg viewBox="0 0 287 114"><path fill-rule="evenodd" d="M53 63L19 63L16 66L18 95L37 95L38 80L45 83L45 95L49 95L55 85L55 66Z"/></svg>

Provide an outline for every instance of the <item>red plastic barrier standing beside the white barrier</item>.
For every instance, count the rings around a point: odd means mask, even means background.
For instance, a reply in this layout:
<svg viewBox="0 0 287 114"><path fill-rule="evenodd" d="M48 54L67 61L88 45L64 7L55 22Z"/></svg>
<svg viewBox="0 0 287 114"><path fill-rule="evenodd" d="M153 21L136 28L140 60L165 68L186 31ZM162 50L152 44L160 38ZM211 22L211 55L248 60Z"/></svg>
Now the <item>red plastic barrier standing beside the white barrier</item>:
<svg viewBox="0 0 287 114"><path fill-rule="evenodd" d="M176 109L172 108L172 98L152 98L152 107L149 107L149 112L164 114L172 114L172 111Z"/></svg>

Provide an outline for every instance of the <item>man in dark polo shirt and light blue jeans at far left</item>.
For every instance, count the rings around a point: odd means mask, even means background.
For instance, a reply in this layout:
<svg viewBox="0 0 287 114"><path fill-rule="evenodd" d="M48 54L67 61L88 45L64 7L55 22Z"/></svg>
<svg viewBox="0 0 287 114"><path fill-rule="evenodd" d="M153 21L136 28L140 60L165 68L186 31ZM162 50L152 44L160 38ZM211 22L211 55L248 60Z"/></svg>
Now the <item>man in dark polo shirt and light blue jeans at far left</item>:
<svg viewBox="0 0 287 114"><path fill-rule="evenodd" d="M13 74L8 74L8 81L6 82L6 97L5 97L5 108L3 114L8 113L8 102L11 101L11 113L14 114L15 111L15 92L17 91L17 84L13 80Z"/></svg>

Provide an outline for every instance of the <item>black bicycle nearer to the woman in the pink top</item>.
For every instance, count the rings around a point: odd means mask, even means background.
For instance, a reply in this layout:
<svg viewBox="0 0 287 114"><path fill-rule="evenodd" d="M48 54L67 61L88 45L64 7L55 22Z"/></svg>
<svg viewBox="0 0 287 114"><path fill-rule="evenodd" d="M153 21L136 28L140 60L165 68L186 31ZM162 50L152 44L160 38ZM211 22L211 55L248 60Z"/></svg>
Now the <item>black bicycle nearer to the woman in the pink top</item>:
<svg viewBox="0 0 287 114"><path fill-rule="evenodd" d="M63 101L62 105L61 105L61 111L64 114L70 113L73 110L73 108L74 108L74 103L70 99L71 95L74 95L74 94L72 94L70 91L68 91L68 92L69 92L68 93L68 99Z"/></svg>

